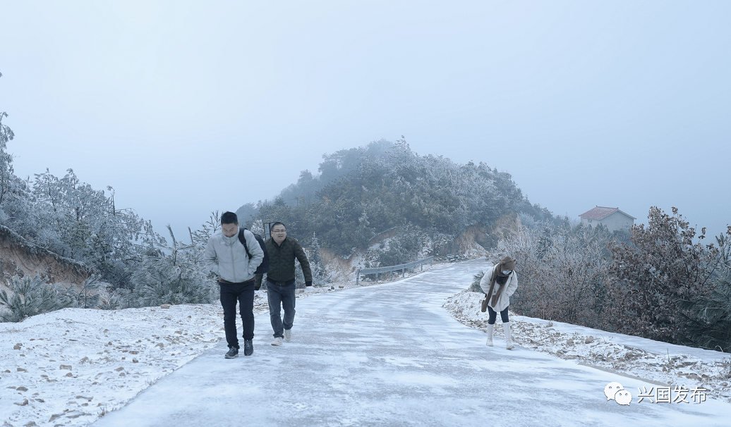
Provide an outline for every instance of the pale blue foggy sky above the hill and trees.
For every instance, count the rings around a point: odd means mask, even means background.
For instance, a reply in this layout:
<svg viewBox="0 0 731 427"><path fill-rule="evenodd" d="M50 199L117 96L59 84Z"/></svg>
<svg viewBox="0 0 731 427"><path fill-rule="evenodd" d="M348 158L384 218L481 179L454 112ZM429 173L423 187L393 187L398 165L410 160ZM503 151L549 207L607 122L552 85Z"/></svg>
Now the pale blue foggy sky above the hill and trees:
<svg viewBox="0 0 731 427"><path fill-rule="evenodd" d="M159 231L406 136L533 203L731 223L728 1L6 1L21 177L72 168Z"/></svg>

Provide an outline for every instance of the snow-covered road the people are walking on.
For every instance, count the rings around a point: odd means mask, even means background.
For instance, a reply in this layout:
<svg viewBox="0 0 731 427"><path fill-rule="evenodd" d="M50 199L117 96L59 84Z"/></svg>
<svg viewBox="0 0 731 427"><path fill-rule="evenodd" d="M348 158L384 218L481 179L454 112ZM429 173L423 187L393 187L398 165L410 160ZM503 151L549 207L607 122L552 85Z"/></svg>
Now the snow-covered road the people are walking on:
<svg viewBox="0 0 731 427"><path fill-rule="evenodd" d="M607 383L633 396L656 385L505 350L501 339L486 347L485 334L442 308L484 266L298 300L281 347L259 315L253 356L224 359L221 341L94 426L731 425L722 401L620 405Z"/></svg>

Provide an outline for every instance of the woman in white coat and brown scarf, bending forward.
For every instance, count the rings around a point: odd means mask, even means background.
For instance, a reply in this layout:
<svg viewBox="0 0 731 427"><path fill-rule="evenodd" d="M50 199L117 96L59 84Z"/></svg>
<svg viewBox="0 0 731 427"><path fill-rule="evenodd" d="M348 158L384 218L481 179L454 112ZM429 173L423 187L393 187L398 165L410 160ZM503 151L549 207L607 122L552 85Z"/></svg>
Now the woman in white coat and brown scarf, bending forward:
<svg viewBox="0 0 731 427"><path fill-rule="evenodd" d="M515 274L515 260L506 256L497 263L480 280L480 288L488 299L488 342L486 345L493 346L493 330L498 312L503 321L505 332L505 348L514 348L512 345L512 333L510 331L510 319L507 316L507 307L510 305L510 296L518 288L518 276Z"/></svg>

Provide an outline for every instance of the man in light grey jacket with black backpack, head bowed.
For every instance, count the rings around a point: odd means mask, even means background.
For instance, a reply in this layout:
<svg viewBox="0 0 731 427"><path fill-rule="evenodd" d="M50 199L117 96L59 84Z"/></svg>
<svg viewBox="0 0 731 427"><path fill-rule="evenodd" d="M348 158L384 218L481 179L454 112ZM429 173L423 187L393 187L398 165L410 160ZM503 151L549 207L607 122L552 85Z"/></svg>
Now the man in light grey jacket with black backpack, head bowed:
<svg viewBox="0 0 731 427"><path fill-rule="evenodd" d="M239 241L243 233L246 248ZM239 303L243 323L243 355L254 353L254 272L264 259L264 251L251 231L238 228L238 218L233 212L221 215L221 233L208 239L203 262L219 276L221 307L224 307L224 331L229 350L225 358L238 357L236 336L236 302Z"/></svg>

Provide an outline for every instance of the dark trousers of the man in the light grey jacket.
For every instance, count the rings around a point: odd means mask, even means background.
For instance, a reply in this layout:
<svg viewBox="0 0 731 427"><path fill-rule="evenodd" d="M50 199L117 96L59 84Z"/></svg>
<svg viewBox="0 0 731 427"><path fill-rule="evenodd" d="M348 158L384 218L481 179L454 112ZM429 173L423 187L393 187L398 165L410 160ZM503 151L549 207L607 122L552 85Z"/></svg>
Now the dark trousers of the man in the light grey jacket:
<svg viewBox="0 0 731 427"><path fill-rule="evenodd" d="M224 330L229 348L238 348L236 336L236 301L243 323L243 339L254 339L254 280L221 283L221 307L224 307Z"/></svg>

